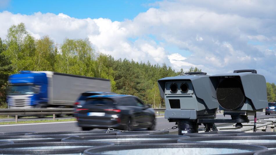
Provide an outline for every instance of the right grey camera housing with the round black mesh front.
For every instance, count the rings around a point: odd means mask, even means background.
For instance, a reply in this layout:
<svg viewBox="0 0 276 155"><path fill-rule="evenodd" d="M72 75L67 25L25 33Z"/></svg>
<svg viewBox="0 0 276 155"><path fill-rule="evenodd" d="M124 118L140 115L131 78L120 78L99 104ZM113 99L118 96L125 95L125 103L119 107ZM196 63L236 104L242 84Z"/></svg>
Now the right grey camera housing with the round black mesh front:
<svg viewBox="0 0 276 155"><path fill-rule="evenodd" d="M224 113L255 113L268 106L266 79L256 70L236 70L234 73L209 77L212 97Z"/></svg>

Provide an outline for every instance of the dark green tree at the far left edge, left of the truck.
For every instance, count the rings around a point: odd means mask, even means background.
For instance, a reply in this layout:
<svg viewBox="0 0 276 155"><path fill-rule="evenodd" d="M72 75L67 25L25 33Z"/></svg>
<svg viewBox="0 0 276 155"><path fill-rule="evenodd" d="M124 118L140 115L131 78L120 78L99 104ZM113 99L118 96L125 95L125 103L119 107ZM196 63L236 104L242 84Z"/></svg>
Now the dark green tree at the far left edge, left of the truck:
<svg viewBox="0 0 276 155"><path fill-rule="evenodd" d="M8 75L12 73L12 65L8 57L3 54L3 51L6 50L6 45L3 44L2 39L0 38L0 104L1 108L5 105L6 102L6 88Z"/></svg>

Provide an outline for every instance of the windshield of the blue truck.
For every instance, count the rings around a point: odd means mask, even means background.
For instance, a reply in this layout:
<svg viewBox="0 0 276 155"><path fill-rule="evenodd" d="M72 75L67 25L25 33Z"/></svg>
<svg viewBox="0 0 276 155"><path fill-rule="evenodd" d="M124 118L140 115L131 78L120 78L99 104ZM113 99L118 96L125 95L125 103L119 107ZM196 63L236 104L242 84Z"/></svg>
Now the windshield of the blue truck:
<svg viewBox="0 0 276 155"><path fill-rule="evenodd" d="M29 95L33 93L32 85L9 86L8 88L8 95Z"/></svg>

